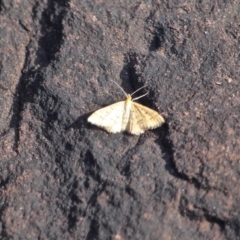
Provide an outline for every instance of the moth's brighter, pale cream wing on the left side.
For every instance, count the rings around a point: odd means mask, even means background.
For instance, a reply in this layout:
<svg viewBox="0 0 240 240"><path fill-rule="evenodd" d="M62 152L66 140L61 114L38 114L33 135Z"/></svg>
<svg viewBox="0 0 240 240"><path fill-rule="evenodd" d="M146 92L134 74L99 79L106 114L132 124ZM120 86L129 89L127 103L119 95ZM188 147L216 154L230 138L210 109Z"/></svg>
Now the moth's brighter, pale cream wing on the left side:
<svg viewBox="0 0 240 240"><path fill-rule="evenodd" d="M108 132L117 133L126 128L124 116L125 101L121 101L97 110L88 118L88 122Z"/></svg>

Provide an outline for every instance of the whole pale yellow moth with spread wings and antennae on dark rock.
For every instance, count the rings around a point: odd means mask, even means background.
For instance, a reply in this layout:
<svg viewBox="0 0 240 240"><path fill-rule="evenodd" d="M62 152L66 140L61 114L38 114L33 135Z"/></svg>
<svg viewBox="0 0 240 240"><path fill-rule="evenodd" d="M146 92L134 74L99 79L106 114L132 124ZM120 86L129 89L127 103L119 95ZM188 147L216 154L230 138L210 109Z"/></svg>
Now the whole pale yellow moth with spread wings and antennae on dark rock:
<svg viewBox="0 0 240 240"><path fill-rule="evenodd" d="M120 87L116 82L114 83ZM134 93L138 92L143 87L139 88ZM132 99L134 93L127 94L121 87L120 89L124 92L126 100L97 110L89 116L88 122L110 133L127 131L136 135L143 133L145 130L157 128L164 123L163 117L158 112L133 102L134 100L146 96L147 93Z"/></svg>

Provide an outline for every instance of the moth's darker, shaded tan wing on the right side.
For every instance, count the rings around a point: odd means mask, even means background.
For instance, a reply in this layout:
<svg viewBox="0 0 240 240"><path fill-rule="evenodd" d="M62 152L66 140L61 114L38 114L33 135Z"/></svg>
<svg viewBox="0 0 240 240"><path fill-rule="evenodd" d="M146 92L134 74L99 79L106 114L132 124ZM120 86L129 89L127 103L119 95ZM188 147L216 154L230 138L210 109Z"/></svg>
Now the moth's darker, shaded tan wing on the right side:
<svg viewBox="0 0 240 240"><path fill-rule="evenodd" d="M127 131L139 135L147 129L153 129L164 123L163 117L156 111L139 103L132 103Z"/></svg>

